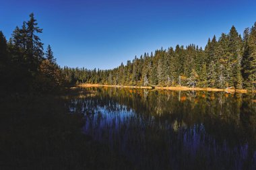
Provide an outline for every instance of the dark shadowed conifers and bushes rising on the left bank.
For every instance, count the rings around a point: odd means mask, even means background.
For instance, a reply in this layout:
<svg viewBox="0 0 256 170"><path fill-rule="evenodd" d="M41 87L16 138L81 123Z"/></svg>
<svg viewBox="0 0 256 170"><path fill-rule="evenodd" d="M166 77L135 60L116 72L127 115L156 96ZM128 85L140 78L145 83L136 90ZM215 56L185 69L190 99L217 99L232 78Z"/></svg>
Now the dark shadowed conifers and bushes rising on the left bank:
<svg viewBox="0 0 256 170"><path fill-rule="evenodd" d="M0 91L41 93L63 87L61 69L50 45L44 52L41 33L33 13L21 28L15 28L8 42L0 31Z"/></svg>

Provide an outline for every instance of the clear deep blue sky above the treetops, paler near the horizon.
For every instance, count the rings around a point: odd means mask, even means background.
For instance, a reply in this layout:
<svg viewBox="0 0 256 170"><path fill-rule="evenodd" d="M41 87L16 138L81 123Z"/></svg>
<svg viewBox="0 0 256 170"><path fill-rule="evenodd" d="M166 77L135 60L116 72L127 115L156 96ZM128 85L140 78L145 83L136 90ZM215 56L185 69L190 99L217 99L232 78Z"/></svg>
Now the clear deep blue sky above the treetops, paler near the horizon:
<svg viewBox="0 0 256 170"><path fill-rule="evenodd" d="M256 22L256 1L0 0L6 38L31 12L61 67L113 69L161 47L204 48L207 38L232 25L243 34Z"/></svg>

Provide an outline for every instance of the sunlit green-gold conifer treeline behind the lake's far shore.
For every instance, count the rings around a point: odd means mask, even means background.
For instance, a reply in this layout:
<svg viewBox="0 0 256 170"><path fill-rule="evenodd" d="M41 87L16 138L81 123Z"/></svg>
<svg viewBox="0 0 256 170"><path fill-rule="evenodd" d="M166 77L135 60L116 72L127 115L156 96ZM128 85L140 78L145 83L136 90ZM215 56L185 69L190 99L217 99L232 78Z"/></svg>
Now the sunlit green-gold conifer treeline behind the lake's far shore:
<svg viewBox="0 0 256 170"><path fill-rule="evenodd" d="M194 44L156 50L111 70L64 67L65 80L107 85L160 85L255 89L256 23L243 38L232 26L228 34L208 40L205 49Z"/></svg>

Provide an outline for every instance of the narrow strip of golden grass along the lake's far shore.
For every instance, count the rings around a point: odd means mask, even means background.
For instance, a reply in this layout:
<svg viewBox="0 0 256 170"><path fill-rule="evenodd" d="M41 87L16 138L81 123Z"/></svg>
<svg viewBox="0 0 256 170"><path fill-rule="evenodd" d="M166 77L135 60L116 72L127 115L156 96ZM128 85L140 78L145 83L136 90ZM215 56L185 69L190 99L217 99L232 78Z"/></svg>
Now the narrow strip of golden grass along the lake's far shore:
<svg viewBox="0 0 256 170"><path fill-rule="evenodd" d="M173 87L160 87L160 86L125 86L125 85L100 85L83 83L77 85L78 87L123 87L123 88L139 88L139 89L166 89L175 91L224 91L226 93L248 93L246 89L216 89L216 88L200 88L200 87L185 87L185 86L173 86ZM256 91L250 91L256 93Z"/></svg>

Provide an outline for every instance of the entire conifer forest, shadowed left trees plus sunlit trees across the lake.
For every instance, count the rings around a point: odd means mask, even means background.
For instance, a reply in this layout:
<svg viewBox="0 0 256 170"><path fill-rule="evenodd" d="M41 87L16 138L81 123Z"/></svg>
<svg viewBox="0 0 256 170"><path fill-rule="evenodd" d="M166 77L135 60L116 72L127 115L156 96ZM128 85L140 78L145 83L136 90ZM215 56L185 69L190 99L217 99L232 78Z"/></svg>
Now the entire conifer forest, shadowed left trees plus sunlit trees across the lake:
<svg viewBox="0 0 256 170"><path fill-rule="evenodd" d="M50 45L44 52L39 34L33 13L8 41L0 31L2 91L49 93L75 83L256 89L256 22L243 37L232 26L218 40L209 38L204 49L195 44L161 48L110 70L59 67Z"/></svg>

